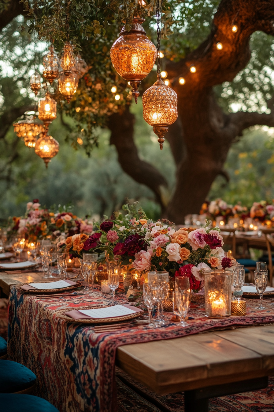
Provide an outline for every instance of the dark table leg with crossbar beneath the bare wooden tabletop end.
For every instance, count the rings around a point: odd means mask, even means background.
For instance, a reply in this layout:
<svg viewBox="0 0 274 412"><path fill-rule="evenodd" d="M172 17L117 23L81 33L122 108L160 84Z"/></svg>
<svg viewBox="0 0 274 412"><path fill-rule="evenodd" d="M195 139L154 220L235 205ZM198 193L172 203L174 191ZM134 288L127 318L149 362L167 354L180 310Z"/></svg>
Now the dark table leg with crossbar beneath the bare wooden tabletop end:
<svg viewBox="0 0 274 412"><path fill-rule="evenodd" d="M268 377L248 379L241 382L231 382L223 385L207 386L184 392L185 412L208 412L208 400L218 396L232 395L247 391L264 389L268 385Z"/></svg>

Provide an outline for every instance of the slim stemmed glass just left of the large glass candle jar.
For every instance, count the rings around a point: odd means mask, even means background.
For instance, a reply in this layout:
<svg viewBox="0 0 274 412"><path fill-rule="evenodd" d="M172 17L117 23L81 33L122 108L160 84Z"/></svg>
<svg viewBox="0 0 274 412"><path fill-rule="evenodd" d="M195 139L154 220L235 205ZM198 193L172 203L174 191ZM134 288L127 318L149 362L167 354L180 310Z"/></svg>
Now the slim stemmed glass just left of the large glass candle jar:
<svg viewBox="0 0 274 412"><path fill-rule="evenodd" d="M190 285L189 278L184 278L182 276L175 278L175 305L178 309L178 316L180 318L179 325L183 328L188 326L185 321L187 316L187 311L189 309L189 297L190 297ZM183 320L182 320L183 318Z"/></svg>

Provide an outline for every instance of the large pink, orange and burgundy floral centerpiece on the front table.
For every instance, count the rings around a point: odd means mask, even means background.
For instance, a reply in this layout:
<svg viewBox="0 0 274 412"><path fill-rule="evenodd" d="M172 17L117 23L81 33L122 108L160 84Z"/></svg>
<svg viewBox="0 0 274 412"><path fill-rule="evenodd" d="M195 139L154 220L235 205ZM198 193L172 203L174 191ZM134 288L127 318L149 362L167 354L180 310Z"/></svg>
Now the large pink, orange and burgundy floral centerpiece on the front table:
<svg viewBox="0 0 274 412"><path fill-rule="evenodd" d="M166 219L150 220L142 208L138 213L134 205L124 205L127 214L115 212L111 219L94 226L94 232L74 234L64 242L71 257L82 257L84 252L106 252L110 258L120 258L121 265L131 265L132 270L145 273L166 270L170 276L187 276L193 290L203 287L205 270L231 267L225 257L223 238L218 227L192 229L173 228Z"/></svg>

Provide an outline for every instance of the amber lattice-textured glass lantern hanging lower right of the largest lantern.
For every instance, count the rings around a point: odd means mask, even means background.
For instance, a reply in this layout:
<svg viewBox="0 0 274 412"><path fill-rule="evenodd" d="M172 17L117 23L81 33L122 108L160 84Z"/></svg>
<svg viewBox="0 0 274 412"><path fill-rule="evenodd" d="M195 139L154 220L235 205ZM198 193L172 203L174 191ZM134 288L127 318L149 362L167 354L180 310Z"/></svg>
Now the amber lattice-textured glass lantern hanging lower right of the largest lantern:
<svg viewBox="0 0 274 412"><path fill-rule="evenodd" d="M153 126L153 131L158 136L160 149L163 150L165 134L168 126L173 124L178 117L177 94L161 79L158 74L157 82L143 94L143 117Z"/></svg>

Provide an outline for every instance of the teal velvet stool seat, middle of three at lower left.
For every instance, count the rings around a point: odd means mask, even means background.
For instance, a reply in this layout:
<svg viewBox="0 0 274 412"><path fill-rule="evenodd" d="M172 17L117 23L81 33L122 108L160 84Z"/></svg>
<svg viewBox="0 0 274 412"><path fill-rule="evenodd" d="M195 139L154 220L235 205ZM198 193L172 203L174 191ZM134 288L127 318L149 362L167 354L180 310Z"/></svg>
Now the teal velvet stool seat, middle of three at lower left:
<svg viewBox="0 0 274 412"><path fill-rule="evenodd" d="M35 382L35 374L21 363L0 359L0 393L23 391Z"/></svg>

